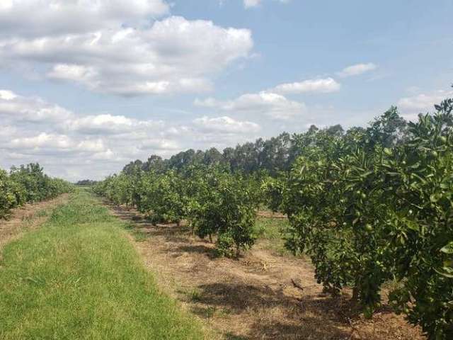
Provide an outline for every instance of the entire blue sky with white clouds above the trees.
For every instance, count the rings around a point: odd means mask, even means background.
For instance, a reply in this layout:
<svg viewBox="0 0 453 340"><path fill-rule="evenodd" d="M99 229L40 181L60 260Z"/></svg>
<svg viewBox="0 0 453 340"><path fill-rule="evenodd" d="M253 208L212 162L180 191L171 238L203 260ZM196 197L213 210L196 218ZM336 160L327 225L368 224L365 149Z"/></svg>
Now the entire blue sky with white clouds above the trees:
<svg viewBox="0 0 453 340"><path fill-rule="evenodd" d="M33 13L33 15L30 15ZM0 168L102 179L150 154L453 97L453 1L1 0Z"/></svg>

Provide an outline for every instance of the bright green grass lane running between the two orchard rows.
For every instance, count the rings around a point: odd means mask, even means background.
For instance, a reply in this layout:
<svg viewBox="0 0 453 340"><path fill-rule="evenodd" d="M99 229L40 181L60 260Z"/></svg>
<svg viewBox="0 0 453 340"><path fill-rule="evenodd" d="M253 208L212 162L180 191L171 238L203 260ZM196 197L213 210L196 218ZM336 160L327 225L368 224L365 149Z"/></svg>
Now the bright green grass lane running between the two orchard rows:
<svg viewBox="0 0 453 340"><path fill-rule="evenodd" d="M0 339L203 339L159 292L125 227L79 190L4 246Z"/></svg>

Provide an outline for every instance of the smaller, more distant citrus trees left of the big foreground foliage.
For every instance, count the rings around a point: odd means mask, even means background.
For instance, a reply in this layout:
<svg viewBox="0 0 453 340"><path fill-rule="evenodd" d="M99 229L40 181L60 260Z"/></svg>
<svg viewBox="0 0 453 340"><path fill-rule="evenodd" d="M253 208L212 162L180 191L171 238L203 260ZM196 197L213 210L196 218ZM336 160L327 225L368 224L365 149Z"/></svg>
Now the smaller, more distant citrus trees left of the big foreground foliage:
<svg viewBox="0 0 453 340"><path fill-rule="evenodd" d="M255 241L260 200L256 181L222 166L188 166L158 174L140 167L98 183L96 193L116 204L135 205L153 222L188 220L200 237L217 236L219 254L231 255Z"/></svg>

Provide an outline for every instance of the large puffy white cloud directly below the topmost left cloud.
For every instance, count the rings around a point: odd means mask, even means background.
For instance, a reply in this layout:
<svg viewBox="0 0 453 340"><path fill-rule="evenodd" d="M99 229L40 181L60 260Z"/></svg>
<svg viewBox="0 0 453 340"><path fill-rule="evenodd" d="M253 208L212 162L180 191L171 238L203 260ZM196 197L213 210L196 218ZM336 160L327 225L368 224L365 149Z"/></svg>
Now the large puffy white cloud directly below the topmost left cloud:
<svg viewBox="0 0 453 340"><path fill-rule="evenodd" d="M54 2L63 6L60 1ZM134 6L157 2L161 1L134 0ZM97 3L105 6L105 1ZM120 8L120 3L129 6L120 0L115 6ZM93 11L93 15L103 13ZM34 17L25 16L21 25L33 31ZM4 67L29 64L44 69L45 77L123 96L210 91L210 76L236 60L250 57L253 49L250 30L222 28L212 21L189 21L180 16L137 27L108 21L107 26L93 30L72 32L69 27L59 34L17 32L4 38L0 35Z"/></svg>

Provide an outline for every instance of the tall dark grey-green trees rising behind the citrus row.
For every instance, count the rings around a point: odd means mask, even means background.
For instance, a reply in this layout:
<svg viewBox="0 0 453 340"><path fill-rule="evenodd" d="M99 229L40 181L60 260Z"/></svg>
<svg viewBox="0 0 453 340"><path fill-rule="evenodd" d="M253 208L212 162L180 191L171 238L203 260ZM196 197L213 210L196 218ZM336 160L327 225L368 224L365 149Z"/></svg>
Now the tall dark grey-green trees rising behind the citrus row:
<svg viewBox="0 0 453 340"><path fill-rule="evenodd" d="M353 127L349 130L344 130L338 124L319 129L316 125L311 125L309 130L304 133L290 135L287 132L283 132L277 137L271 137L268 140L258 138L255 142L246 142L234 148L226 147L222 152L215 147L205 151L188 149L168 159L151 154L144 162L139 159L130 162L122 171L125 174L129 174L138 167L143 171L154 171L157 174L161 174L168 170L179 171L195 164L204 164L205 166L222 164L231 172L252 174L258 171L265 171L275 176L280 171L289 171L294 160L301 155L304 145L309 142L307 138L316 135L316 132L320 132L323 135L346 138L357 133L365 133L369 136L370 142L391 147L407 137L408 123L398 115L396 107L392 107L367 128Z"/></svg>

